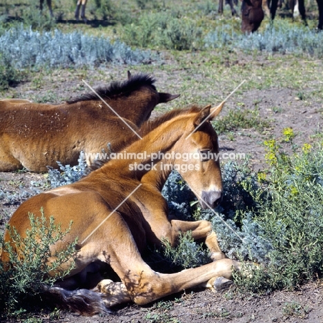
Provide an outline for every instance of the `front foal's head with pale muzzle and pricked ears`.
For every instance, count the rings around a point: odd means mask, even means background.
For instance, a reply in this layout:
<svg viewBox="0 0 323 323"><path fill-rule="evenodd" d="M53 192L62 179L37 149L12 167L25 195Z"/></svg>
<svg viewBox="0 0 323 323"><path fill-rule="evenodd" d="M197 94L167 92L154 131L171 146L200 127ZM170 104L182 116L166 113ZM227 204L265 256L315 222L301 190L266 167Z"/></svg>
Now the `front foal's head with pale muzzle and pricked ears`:
<svg viewBox="0 0 323 323"><path fill-rule="evenodd" d="M211 120L222 110L206 106L190 117L186 133L174 148L182 152L175 157L177 170L188 183L203 208L214 208L222 199L222 176L219 166L219 144ZM176 169L175 168L175 169Z"/></svg>

